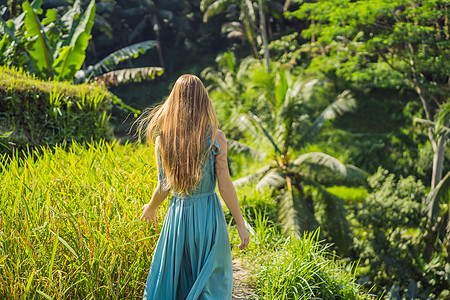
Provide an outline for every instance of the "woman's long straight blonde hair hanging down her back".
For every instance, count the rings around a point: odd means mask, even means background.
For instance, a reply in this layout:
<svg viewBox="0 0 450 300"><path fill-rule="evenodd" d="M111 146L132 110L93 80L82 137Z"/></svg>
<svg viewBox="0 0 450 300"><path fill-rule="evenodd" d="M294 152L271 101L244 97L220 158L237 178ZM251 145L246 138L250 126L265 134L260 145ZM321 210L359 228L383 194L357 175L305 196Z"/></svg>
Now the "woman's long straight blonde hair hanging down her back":
<svg viewBox="0 0 450 300"><path fill-rule="evenodd" d="M201 80L195 75L178 78L167 100L148 108L137 120L138 134L144 132L149 146L159 136L165 188L191 194L202 179L202 161L211 151L218 128L216 113Z"/></svg>

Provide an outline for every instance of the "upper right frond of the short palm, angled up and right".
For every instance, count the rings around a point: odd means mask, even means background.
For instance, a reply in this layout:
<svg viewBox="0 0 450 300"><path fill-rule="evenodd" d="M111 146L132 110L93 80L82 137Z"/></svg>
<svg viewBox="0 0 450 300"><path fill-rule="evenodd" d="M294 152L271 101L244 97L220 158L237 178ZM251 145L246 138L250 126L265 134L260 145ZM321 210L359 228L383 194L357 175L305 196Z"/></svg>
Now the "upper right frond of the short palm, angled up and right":
<svg viewBox="0 0 450 300"><path fill-rule="evenodd" d="M325 108L322 113L314 120L311 125L308 138L314 139L320 132L322 126L328 121L333 120L346 112L353 110L356 107L356 101L350 94L350 91L345 90L337 96L336 101Z"/></svg>

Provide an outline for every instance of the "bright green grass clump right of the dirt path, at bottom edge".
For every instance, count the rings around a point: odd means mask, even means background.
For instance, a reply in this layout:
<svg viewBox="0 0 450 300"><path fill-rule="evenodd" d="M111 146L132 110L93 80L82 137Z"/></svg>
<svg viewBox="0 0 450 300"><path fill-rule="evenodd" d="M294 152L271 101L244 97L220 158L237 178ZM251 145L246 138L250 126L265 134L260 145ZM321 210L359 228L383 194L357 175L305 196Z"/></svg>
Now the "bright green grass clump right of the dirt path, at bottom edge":
<svg viewBox="0 0 450 300"><path fill-rule="evenodd" d="M255 234L242 260L259 299L374 299L356 283L356 266L339 261L318 231L286 237L262 213L254 215Z"/></svg>

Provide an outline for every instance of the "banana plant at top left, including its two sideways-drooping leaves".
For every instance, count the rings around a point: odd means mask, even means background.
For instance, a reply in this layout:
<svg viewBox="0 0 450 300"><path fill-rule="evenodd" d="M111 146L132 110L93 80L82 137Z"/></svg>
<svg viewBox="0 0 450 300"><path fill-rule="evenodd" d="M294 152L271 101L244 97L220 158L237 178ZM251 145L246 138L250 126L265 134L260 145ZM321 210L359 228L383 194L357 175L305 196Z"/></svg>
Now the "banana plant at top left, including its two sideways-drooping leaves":
<svg viewBox="0 0 450 300"><path fill-rule="evenodd" d="M119 49L103 60L80 70L85 57L95 18L95 1L86 10L80 0L61 17L55 9L48 9L40 20L42 0L22 4L23 13L10 19L0 17L0 63L24 66L38 77L51 80L86 82L108 72L118 81L148 80L163 73L161 68L114 69L122 61L136 58L156 46L148 40ZM11 59L11 57L13 57ZM111 73L113 72L113 73ZM123 79L123 80L122 80ZM101 80L101 79L100 79Z"/></svg>

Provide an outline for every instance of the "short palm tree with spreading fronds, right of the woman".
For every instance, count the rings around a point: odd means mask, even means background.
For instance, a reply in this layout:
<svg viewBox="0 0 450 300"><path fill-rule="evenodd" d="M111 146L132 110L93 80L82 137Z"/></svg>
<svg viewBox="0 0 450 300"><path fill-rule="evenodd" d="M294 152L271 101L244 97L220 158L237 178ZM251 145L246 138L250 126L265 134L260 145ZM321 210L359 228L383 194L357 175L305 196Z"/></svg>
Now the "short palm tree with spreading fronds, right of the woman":
<svg viewBox="0 0 450 300"><path fill-rule="evenodd" d="M257 182L257 189L269 187L278 191L278 218L285 232L301 234L319 227L314 202L321 201L327 220L322 227L338 251L348 254L351 238L343 200L328 192L325 186L336 182L364 183L367 174L325 153L297 153L304 151L326 122L353 109L355 101L344 91L317 115L314 114L317 99L313 93L317 80L294 77L286 70L278 71L273 78L273 85L266 81L269 84L265 89L274 93L266 97L266 107L259 110L259 116L249 111L238 119L255 140L259 143L265 140L270 145L266 156L273 160L234 184L253 181ZM311 189L317 194L314 200L308 192Z"/></svg>

